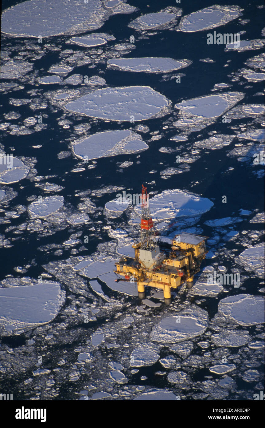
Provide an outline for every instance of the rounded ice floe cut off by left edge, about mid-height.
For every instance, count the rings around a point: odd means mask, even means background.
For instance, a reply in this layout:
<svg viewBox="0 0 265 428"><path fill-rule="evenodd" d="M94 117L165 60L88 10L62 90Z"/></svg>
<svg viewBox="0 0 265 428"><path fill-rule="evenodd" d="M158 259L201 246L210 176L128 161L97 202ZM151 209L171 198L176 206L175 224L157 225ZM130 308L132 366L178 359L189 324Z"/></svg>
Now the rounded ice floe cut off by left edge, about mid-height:
<svg viewBox="0 0 265 428"><path fill-rule="evenodd" d="M0 184L17 183L26 178L29 167L22 160L10 155L0 154Z"/></svg>

